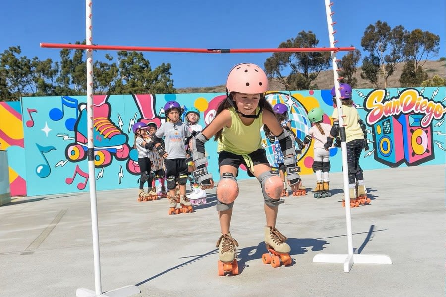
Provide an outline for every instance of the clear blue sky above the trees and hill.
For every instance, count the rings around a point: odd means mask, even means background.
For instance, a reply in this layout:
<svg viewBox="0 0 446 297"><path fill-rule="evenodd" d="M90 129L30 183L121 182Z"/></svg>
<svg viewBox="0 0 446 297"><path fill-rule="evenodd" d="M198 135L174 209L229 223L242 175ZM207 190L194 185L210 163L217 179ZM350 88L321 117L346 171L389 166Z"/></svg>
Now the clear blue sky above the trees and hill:
<svg viewBox="0 0 446 297"><path fill-rule="evenodd" d="M332 10L338 46L362 51L365 28L381 20L391 27L439 35L436 59L445 56L445 0L338 0ZM0 25L0 52L19 45L28 58L59 60L60 50L39 44L84 40L85 1L3 1ZM313 31L319 46L329 46L324 0L93 0L93 43L101 45L277 48L302 30ZM97 51L93 59L106 53ZM233 65L252 62L263 67L272 53L144 55L152 69L170 63L174 87L183 88L224 84Z"/></svg>

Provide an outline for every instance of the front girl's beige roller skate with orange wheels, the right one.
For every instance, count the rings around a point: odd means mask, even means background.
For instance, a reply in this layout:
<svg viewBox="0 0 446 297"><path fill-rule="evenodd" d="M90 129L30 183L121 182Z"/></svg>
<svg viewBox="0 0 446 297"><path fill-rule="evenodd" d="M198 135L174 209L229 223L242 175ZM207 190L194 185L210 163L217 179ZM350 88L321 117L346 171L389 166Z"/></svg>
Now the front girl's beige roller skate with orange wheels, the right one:
<svg viewBox="0 0 446 297"><path fill-rule="evenodd" d="M292 259L289 256L291 248L285 243L286 238L274 227L265 226L265 245L268 253L262 255L263 264L271 264L273 267L281 265L291 265Z"/></svg>

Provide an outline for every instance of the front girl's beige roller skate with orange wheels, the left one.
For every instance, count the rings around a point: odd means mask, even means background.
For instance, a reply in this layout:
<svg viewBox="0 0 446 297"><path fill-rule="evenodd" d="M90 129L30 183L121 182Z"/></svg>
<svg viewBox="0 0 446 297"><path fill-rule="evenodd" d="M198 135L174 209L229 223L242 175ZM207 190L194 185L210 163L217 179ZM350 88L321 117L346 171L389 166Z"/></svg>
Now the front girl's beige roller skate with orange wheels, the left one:
<svg viewBox="0 0 446 297"><path fill-rule="evenodd" d="M231 233L222 234L217 240L216 247L219 248L219 261L218 269L219 276L223 276L225 272L232 275L238 274L238 264L235 259L236 249L238 242L232 238Z"/></svg>

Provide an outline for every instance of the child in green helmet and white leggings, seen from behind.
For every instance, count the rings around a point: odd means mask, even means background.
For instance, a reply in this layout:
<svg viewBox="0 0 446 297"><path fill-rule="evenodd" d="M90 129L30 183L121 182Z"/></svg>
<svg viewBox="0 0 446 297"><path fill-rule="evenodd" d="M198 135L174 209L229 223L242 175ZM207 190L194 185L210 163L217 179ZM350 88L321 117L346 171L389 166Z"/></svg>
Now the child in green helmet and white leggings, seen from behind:
<svg viewBox="0 0 446 297"><path fill-rule="evenodd" d="M329 192L330 153L324 148L324 144L327 140L327 136L330 135L332 126L322 122L323 116L324 111L320 107L315 107L308 112L308 119L313 126L303 140L303 146L309 144L312 139L314 140L313 171L316 173L316 187L314 188L315 198L331 196L331 193Z"/></svg>

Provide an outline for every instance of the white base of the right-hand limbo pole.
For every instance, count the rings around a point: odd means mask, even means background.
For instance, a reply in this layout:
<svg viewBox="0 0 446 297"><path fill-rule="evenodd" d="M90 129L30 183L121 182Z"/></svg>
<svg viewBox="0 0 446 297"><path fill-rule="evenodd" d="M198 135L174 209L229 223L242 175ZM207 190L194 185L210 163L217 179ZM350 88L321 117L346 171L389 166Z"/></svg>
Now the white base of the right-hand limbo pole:
<svg viewBox="0 0 446 297"><path fill-rule="evenodd" d="M317 263L343 263L344 272L350 272L354 263L357 264L392 264L388 255L359 255L359 254L317 254L313 257Z"/></svg>

